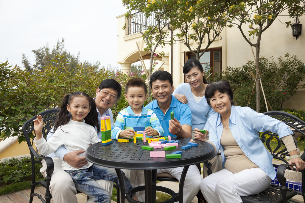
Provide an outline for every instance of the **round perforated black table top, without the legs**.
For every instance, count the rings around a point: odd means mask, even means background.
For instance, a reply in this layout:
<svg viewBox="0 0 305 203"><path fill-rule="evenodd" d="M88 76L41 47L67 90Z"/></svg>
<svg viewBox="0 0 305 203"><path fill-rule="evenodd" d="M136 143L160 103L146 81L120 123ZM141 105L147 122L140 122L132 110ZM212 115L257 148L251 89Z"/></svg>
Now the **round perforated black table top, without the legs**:
<svg viewBox="0 0 305 203"><path fill-rule="evenodd" d="M202 163L212 159L216 155L213 145L207 142L195 140L198 147L183 150L181 147L188 145L190 138L178 138L177 140L180 140L177 148L165 151L165 154L180 150L183 153L179 159L149 157L149 152L164 151L164 149L159 148L153 149L152 151L142 149L141 147L143 145L148 146L148 142L146 141L144 143L141 140L137 140L137 143L133 143L132 141L117 142L113 140L112 144L109 145L102 145L102 142L95 143L88 147L85 156L91 163L109 168L153 170Z"/></svg>

